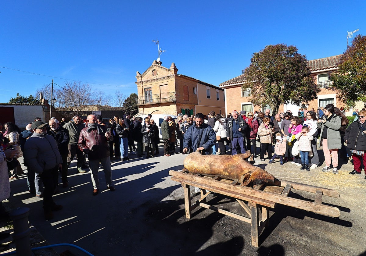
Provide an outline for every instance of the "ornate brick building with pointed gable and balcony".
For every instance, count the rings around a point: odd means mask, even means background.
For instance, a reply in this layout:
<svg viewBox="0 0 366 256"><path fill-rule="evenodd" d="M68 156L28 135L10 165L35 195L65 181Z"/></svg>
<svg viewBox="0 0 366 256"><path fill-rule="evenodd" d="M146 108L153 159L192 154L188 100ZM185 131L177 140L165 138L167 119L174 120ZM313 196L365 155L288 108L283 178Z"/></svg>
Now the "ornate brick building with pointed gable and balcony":
<svg viewBox="0 0 366 256"><path fill-rule="evenodd" d="M178 74L172 63L170 68L154 60L140 74L136 72L137 93L135 104L139 113L194 115L208 114L211 110L225 113L224 89Z"/></svg>

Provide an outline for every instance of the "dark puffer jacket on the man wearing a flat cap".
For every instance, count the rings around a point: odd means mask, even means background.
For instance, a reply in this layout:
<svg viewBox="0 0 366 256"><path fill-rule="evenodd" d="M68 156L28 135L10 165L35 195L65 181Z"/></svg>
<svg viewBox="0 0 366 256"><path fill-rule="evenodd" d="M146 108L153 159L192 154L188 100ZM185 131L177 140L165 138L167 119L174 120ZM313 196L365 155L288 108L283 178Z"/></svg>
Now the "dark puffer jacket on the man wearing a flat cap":
<svg viewBox="0 0 366 256"><path fill-rule="evenodd" d="M24 161L28 168L39 174L62 163L55 139L36 132L25 142Z"/></svg>

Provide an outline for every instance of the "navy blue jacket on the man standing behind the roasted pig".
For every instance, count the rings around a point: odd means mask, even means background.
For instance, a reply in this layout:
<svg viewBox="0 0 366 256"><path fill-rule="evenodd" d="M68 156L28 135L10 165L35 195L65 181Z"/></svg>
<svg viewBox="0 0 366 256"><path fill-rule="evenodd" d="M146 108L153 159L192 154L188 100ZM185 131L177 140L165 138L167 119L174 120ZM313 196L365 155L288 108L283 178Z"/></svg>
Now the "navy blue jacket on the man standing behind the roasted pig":
<svg viewBox="0 0 366 256"><path fill-rule="evenodd" d="M196 124L191 125L183 138L183 148L189 148L190 152L195 152L197 148L203 147L203 154L209 154L210 148L216 143L216 132L208 124L203 123L201 127Z"/></svg>

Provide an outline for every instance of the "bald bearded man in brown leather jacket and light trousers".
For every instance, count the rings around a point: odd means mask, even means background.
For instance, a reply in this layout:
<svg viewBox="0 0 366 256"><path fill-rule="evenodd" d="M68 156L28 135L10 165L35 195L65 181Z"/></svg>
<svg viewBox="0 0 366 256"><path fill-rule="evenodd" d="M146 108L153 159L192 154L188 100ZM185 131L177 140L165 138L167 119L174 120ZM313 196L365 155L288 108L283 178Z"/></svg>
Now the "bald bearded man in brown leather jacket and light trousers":
<svg viewBox="0 0 366 256"><path fill-rule="evenodd" d="M93 196L96 196L99 192L99 163L102 164L108 189L115 191L112 185L111 157L108 146L108 142L112 141L113 137L111 132L107 132L107 127L98 124L96 116L89 115L86 119L89 123L80 132L78 147L81 151L88 154L91 182L94 187Z"/></svg>

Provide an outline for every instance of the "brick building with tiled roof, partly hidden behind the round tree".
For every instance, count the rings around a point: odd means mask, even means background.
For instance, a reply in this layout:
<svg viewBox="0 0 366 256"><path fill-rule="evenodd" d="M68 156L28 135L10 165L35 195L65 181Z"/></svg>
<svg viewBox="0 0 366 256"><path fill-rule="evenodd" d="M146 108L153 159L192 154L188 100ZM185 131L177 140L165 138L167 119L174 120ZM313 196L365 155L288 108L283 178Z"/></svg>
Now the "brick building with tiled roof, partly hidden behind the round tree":
<svg viewBox="0 0 366 256"><path fill-rule="evenodd" d="M332 89L331 82L328 79L329 72L338 69L340 57L341 55L336 55L322 59L309 60L307 62L311 75L315 76L317 84L321 89L318 93L318 98L310 101L309 105L307 105L308 109L314 108L316 110L318 106L324 107L329 103L334 104L338 108L345 106L340 99L336 98L337 92ZM219 84L220 88L225 90L225 109L227 109L227 112L232 112L232 110L257 111L258 109L263 111L264 109L269 108L269 106L254 106L250 102L250 89L247 91L242 90L244 82L244 75L240 75ZM229 98L230 101L227 101L227 98ZM292 104L281 104L279 112L291 110L292 113L296 115L299 108L300 106ZM352 109L348 113L346 112L346 114L352 115Z"/></svg>

